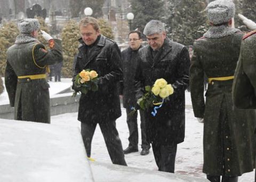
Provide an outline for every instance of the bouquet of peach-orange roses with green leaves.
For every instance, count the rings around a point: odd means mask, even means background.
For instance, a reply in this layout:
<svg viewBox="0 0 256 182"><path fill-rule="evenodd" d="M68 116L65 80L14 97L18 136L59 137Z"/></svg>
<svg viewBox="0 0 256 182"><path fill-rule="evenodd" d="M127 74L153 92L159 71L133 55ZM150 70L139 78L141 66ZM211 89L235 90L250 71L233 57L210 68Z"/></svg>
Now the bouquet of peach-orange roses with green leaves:
<svg viewBox="0 0 256 182"><path fill-rule="evenodd" d="M94 70L83 70L75 77L75 85L79 88L81 93L86 94L89 90L95 92L98 90L98 73ZM76 97L78 91L73 93L73 97Z"/></svg>

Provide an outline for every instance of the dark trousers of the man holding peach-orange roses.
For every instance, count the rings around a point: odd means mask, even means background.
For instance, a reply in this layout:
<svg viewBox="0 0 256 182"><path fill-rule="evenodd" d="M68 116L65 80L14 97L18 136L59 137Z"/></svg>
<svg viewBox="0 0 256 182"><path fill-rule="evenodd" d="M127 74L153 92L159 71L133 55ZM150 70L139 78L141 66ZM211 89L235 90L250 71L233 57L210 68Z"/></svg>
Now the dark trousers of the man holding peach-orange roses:
<svg viewBox="0 0 256 182"><path fill-rule="evenodd" d="M87 157L91 157L92 137L97 123L81 123L81 134L84 141ZM108 153L114 164L127 166L124 159L122 142L116 129L116 120L99 123L101 133L104 137Z"/></svg>

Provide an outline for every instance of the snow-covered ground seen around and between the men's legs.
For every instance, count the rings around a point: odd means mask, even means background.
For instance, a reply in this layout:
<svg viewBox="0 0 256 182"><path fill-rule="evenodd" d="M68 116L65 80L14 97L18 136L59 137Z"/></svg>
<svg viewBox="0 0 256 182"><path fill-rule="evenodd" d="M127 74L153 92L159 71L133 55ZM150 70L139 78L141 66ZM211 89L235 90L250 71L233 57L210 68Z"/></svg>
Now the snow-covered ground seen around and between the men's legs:
<svg viewBox="0 0 256 182"><path fill-rule="evenodd" d="M59 91L68 88L71 85L70 79L62 79L62 82L49 82L51 85L50 94L55 94ZM70 93L71 97L71 93ZM0 104L9 103L6 92L0 96ZM191 106L190 94L186 92L186 105ZM77 121L77 112L62 114L51 117L51 123L53 125L66 125L69 127L80 126ZM117 119L116 126L119 132L119 136L122 140L123 148L125 149L129 142L129 131L126 124L125 110L122 108L122 116ZM140 122L138 119L138 126ZM140 129L139 129L140 134ZM140 135L139 135L140 136ZM139 144L141 138L139 137ZM92 158L96 161L111 163L108 151L103 140L100 128L97 126L92 141ZM157 170L157 166L154 160L154 155L150 149L149 155L142 156L139 152L126 154L125 160L128 166L137 168L146 168L149 170ZM175 163L175 173L185 174L189 176L205 177L202 173L203 165L203 124L198 123L194 118L193 109L189 107L186 109L186 136L185 142L178 145L177 158ZM239 182L252 182L254 181L254 172L249 172L239 177Z"/></svg>

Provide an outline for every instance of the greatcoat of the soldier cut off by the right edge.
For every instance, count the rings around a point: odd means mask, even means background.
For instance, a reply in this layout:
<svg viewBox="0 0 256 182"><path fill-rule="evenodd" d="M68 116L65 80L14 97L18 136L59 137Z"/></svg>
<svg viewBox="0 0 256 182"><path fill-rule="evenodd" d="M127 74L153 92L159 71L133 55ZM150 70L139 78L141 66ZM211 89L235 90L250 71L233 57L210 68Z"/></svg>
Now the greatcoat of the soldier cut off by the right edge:
<svg viewBox="0 0 256 182"><path fill-rule="evenodd" d="M233 84L233 100L237 108L256 109L256 30L247 33L241 44Z"/></svg>

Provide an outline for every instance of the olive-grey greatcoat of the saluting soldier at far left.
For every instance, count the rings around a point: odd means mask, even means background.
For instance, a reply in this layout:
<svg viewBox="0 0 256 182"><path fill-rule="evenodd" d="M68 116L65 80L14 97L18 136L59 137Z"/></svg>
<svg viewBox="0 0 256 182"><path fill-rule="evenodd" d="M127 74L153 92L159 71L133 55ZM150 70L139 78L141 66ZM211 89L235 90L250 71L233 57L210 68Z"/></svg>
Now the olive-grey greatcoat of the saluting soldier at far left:
<svg viewBox="0 0 256 182"><path fill-rule="evenodd" d="M46 79L18 79L18 76L45 74L46 65L61 62L61 41L54 39L51 46L51 51L46 51L40 42L31 40L7 50L5 87L17 120L50 123L50 85Z"/></svg>

